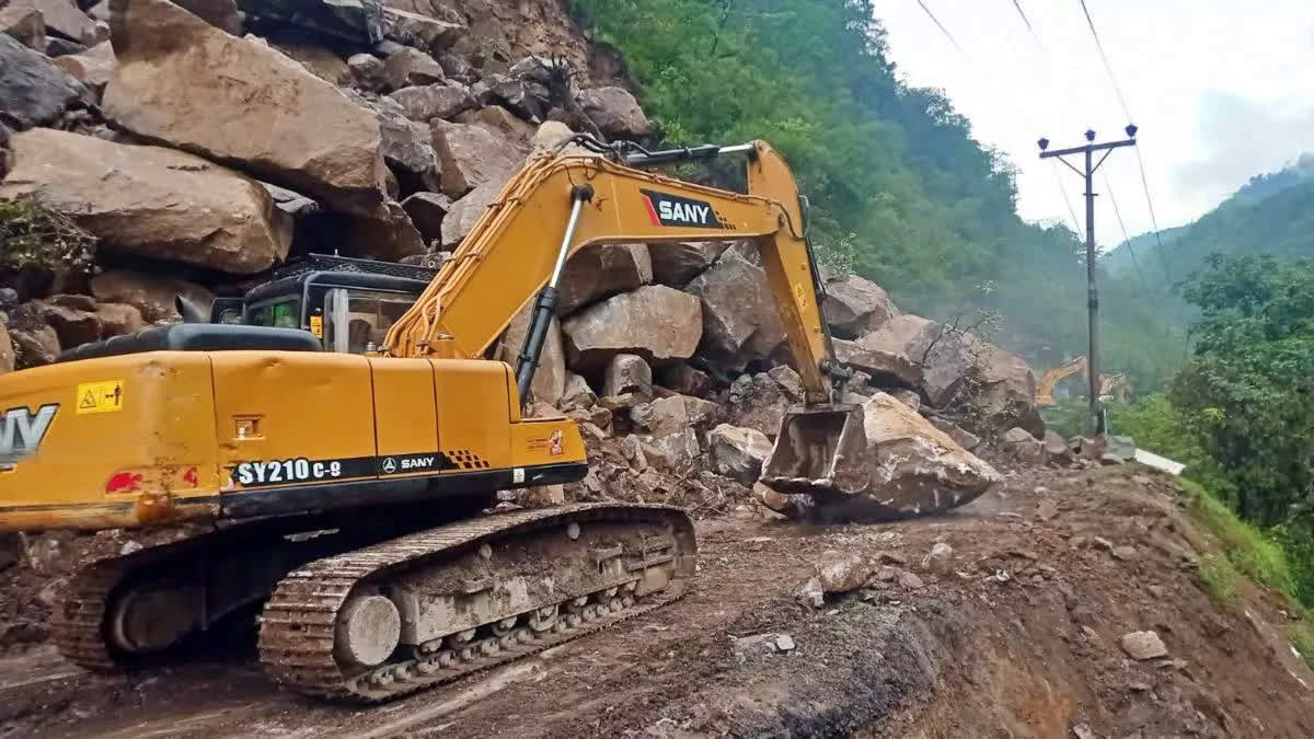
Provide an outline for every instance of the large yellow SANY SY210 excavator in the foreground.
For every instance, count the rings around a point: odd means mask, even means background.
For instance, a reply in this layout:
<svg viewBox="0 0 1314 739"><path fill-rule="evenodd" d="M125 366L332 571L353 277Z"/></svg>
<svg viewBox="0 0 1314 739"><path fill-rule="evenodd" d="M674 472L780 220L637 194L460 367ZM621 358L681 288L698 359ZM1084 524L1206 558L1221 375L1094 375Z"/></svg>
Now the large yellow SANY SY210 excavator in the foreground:
<svg viewBox="0 0 1314 739"><path fill-rule="evenodd" d="M477 515L497 490L586 472L576 425L522 417L522 401L562 267L587 245L756 239L807 396L767 467L809 494L867 477L853 469L862 412L834 405L848 373L784 160L763 142L570 143L595 153L531 159L430 281L322 263L217 302L208 322L0 377L0 530L175 536L71 579L53 615L66 657L130 668L261 609L271 676L372 702L679 597L696 544L678 509ZM649 171L727 155L746 158L746 195ZM482 359L531 300L516 367Z"/></svg>

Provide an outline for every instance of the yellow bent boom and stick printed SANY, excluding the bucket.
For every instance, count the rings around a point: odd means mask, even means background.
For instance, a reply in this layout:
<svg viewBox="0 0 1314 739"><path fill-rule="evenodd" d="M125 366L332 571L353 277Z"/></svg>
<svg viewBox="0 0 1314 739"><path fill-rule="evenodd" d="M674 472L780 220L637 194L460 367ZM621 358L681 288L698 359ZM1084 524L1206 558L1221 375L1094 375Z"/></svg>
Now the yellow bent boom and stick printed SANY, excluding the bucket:
<svg viewBox="0 0 1314 739"><path fill-rule="evenodd" d="M548 155L506 184L414 306L390 329L392 356L478 358L537 295L520 356L522 394L551 320L565 262L595 243L754 239L809 402L828 402L830 362L820 281L803 233L799 192L763 142L748 154L748 195L675 180L603 156ZM632 162L660 162L636 155ZM541 338L539 339L541 342Z"/></svg>

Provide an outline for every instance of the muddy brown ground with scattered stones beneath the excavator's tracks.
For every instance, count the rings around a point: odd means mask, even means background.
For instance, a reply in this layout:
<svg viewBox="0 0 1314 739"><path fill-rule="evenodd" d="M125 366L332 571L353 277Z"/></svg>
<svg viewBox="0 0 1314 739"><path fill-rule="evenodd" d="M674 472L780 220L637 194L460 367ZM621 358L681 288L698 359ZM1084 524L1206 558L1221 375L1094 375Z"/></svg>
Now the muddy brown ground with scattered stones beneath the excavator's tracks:
<svg viewBox="0 0 1314 739"><path fill-rule="evenodd" d="M381 707L280 690L242 629L118 677L12 648L0 736L1314 736L1282 601L1247 586L1217 609L1192 568L1213 543L1143 468L1014 472L891 525L712 518L699 540L683 600ZM922 565L937 542L945 575ZM813 609L796 593L827 550L892 569ZM1167 656L1123 651L1143 630ZM763 634L794 648L736 643Z"/></svg>

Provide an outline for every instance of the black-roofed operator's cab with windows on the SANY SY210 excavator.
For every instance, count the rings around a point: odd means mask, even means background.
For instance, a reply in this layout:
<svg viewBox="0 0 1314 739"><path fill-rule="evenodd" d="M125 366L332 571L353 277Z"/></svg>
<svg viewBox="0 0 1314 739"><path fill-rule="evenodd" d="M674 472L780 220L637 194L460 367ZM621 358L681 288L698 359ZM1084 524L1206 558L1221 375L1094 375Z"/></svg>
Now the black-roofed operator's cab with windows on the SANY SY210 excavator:
<svg viewBox="0 0 1314 739"><path fill-rule="evenodd" d="M382 346L436 275L436 266L311 254L242 297L217 298L208 312L181 298L179 308L188 322L300 329L326 351L364 354Z"/></svg>

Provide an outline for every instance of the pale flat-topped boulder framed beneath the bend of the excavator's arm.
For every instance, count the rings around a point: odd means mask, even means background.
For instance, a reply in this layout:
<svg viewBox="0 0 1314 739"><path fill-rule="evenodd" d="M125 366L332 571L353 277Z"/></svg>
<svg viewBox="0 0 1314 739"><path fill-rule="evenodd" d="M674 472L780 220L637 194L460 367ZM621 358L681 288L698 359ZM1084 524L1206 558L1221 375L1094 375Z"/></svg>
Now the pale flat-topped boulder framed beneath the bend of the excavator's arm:
<svg viewBox="0 0 1314 739"><path fill-rule="evenodd" d="M698 298L665 285L644 285L572 316L561 326L572 368L602 367L616 354L637 354L654 364L689 359L698 348L703 317Z"/></svg>

